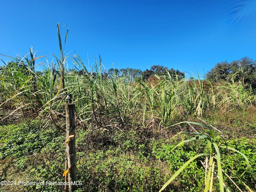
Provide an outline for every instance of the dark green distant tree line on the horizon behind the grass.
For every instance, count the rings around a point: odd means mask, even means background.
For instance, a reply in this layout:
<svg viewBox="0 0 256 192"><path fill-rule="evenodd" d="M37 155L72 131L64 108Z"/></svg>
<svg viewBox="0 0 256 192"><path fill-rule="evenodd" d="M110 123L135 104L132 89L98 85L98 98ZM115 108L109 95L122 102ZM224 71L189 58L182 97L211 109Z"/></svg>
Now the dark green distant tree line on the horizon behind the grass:
<svg viewBox="0 0 256 192"><path fill-rule="evenodd" d="M6 66L0 66L0 73L3 72L5 68L16 65L18 68L22 68L24 71L28 72L28 66L25 66L24 63L20 65L17 62L8 62ZM44 72L35 72L38 75L43 75ZM85 70L75 70L70 69L68 71L70 74L78 74L78 75L96 75L95 72L88 72ZM179 70L174 70L174 68L168 69L162 65L153 65L150 69L146 69L144 71L140 69L133 68L122 68L122 69L114 69L110 68L109 70L103 70L102 77L109 78L111 76L121 77L125 76L134 80L136 78L142 78L143 80L148 80L150 76L154 76L155 74L162 76L164 74L171 74L172 76L176 76L179 79L185 78L185 73ZM252 88L256 88L256 61L251 58L244 57L240 60L234 60L232 62L222 61L218 62L214 68L212 68L206 74L206 79L210 82L221 82L221 81L233 81L238 82L241 81L244 86L252 86Z"/></svg>

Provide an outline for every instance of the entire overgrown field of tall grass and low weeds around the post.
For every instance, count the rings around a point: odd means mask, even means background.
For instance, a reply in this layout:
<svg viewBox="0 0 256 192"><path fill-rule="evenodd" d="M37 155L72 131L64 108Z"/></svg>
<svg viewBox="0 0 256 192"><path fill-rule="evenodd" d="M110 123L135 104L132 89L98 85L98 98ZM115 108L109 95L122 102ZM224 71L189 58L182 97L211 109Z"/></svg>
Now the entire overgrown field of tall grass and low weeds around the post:
<svg viewBox="0 0 256 192"><path fill-rule="evenodd" d="M46 182L64 182L68 94L76 110L77 192L155 192L166 182L163 190L173 192L256 190L250 85L168 72L146 82L102 76L101 58L88 71L79 56L64 55L61 41L60 56L43 72L35 71L38 59L31 49L0 70L0 191L64 189ZM84 73L66 71L67 62Z"/></svg>

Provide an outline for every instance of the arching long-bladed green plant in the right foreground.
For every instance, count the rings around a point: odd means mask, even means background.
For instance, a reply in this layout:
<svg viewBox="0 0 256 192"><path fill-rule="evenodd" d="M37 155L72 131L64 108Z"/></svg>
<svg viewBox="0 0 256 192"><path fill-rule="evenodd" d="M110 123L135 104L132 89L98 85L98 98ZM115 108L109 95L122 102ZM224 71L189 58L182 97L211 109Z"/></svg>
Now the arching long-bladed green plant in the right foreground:
<svg viewBox="0 0 256 192"><path fill-rule="evenodd" d="M210 135L205 135L205 134L200 134L200 133L190 133L190 132L180 132L177 135L181 134L181 133L188 133L188 134L196 134L195 137L190 138L188 140L183 140L182 142L180 142L179 144L177 144L172 150L174 150L176 147L181 146L182 144L186 143L186 142L190 142L190 141L195 141L195 140L199 140L199 139L205 139L207 144L207 150L208 153L201 153L201 154L197 154L195 156L193 156L192 158L190 158L187 162L185 162L174 174L173 176L164 184L164 186L162 186L162 188L159 190L159 192L163 191L177 176L178 174L180 174L185 168L186 166L188 166L188 164L190 164L193 160L195 160L196 158L199 158L201 156L209 156L209 162L208 160L206 160L206 174L205 174L205 188L204 191L207 192L208 190L212 191L212 187L213 187L213 180L214 180L214 172L215 172L215 163L217 165L217 177L219 179L219 190L220 192L224 192L224 180L223 180L223 174L222 172L224 172L224 170L222 169L222 163L221 163L221 158L222 156L220 155L220 148L225 148L228 150L232 150L234 152L237 152L238 154L242 155L244 160L246 161L246 169L244 170L244 172L242 172L240 174L240 176L238 176L238 178L240 178L242 175L244 175L244 173L248 170L248 168L250 167L250 163L248 158L240 151L229 147L229 146L224 146L224 145L218 145L215 141L214 138L214 132L208 128L208 126L205 126L204 124L200 124L200 123L196 123L196 122L180 122L178 124L182 124L182 123L190 123L190 124L196 124L198 126L202 126L203 128L206 128L207 130L209 130ZM178 125L175 124L175 125ZM175 126L173 125L173 126ZM176 135L176 136L177 136ZM208 158L207 158L208 159ZM230 178L230 176L228 176L228 174L226 174L226 172L224 172L224 174L230 179L232 180L232 178ZM232 180L232 182L234 183L234 181ZM236 185L236 184L235 184ZM236 185L237 186L237 185ZM249 188L246 184L245 184L246 188ZM250 189L250 188L249 188Z"/></svg>

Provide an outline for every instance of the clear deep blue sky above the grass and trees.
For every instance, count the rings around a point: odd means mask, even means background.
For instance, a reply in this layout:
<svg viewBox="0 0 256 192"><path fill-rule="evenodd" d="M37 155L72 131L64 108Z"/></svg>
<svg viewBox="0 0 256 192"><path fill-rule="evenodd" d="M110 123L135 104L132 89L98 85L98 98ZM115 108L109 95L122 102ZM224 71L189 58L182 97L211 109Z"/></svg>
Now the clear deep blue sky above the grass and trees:
<svg viewBox="0 0 256 192"><path fill-rule="evenodd" d="M13 57L31 45L37 56L59 55L60 23L63 40L69 28L64 51L85 64L88 54L91 65L100 54L106 69L203 75L225 60L256 60L255 0L6 0L0 14L0 54Z"/></svg>

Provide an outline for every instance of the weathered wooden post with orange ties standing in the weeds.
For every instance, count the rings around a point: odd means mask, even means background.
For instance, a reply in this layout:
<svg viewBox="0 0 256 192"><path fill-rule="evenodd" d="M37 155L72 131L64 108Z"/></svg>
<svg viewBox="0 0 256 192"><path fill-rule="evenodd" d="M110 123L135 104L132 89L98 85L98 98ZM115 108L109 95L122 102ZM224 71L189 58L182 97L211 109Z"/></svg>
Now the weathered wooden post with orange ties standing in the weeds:
<svg viewBox="0 0 256 192"><path fill-rule="evenodd" d="M76 190L76 141L75 141L75 104L66 104L66 174L65 192Z"/></svg>

